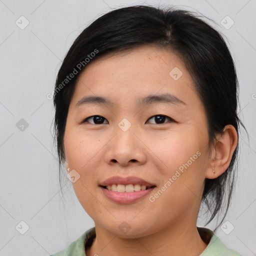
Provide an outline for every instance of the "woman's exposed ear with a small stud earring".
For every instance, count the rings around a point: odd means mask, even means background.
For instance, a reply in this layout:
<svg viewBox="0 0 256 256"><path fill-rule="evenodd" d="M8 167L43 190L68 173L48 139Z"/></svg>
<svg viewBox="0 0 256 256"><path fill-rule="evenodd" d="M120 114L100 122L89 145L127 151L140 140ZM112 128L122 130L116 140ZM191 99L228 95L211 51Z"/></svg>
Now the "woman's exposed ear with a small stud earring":
<svg viewBox="0 0 256 256"><path fill-rule="evenodd" d="M236 145L237 132L233 125L228 124L224 127L223 131L216 136L216 144L211 151L205 178L216 178L227 169Z"/></svg>

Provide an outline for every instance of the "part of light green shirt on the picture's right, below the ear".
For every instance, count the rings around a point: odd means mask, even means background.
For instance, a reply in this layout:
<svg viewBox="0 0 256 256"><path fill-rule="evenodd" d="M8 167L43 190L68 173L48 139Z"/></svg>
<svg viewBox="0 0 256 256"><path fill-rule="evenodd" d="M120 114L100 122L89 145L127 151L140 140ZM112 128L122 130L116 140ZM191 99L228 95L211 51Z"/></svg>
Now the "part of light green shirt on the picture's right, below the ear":
<svg viewBox="0 0 256 256"><path fill-rule="evenodd" d="M237 251L227 248L210 229L197 227L197 230L203 240L209 240L207 247L199 256L242 256Z"/></svg>

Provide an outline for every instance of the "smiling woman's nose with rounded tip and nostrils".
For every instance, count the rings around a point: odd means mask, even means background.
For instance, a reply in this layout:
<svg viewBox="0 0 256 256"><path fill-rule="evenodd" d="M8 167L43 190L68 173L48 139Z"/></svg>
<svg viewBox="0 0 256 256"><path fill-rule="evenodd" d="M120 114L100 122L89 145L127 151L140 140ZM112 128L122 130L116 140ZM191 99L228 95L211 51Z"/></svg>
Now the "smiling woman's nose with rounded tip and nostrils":
<svg viewBox="0 0 256 256"><path fill-rule="evenodd" d="M123 131L117 127L115 136L107 146L104 158L110 165L137 166L146 161L146 146L131 128Z"/></svg>

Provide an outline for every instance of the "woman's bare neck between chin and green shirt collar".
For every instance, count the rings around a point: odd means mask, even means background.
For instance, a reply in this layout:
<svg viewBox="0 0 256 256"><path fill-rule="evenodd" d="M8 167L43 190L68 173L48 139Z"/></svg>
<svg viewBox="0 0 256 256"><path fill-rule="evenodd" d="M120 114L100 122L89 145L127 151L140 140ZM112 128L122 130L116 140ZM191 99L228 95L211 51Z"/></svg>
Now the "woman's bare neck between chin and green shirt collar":
<svg viewBox="0 0 256 256"><path fill-rule="evenodd" d="M90 248L86 248L86 256L171 256L199 255L207 246L196 228L193 226L172 225L159 231L138 238L121 238L109 233L95 224L96 237ZM193 252L193 253L191 253Z"/></svg>

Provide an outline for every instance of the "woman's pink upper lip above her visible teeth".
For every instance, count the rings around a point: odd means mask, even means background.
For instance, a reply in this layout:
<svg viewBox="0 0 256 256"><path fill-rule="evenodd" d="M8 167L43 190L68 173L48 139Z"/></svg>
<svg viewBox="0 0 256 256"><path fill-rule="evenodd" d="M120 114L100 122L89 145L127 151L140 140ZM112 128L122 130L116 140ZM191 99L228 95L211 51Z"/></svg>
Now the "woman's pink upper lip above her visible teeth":
<svg viewBox="0 0 256 256"><path fill-rule="evenodd" d="M145 186L154 186L154 184L151 184L147 182L146 180L136 177L136 176L128 176L128 177L121 177L121 176L112 176L110 178L107 178L103 182L101 182L99 185L101 186L107 186L112 184L140 184Z"/></svg>

